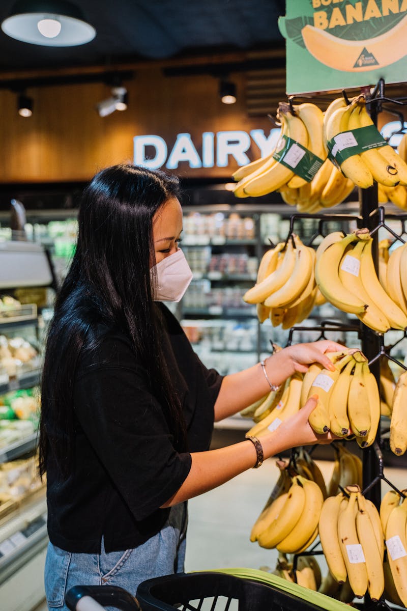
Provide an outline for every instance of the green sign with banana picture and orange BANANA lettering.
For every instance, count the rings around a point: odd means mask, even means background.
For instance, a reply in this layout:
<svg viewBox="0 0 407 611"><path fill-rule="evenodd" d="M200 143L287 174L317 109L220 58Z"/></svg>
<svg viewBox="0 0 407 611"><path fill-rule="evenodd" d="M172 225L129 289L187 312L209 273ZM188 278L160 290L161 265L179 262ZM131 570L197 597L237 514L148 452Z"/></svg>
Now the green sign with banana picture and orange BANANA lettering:
<svg viewBox="0 0 407 611"><path fill-rule="evenodd" d="M407 81L407 0L286 0L287 93Z"/></svg>

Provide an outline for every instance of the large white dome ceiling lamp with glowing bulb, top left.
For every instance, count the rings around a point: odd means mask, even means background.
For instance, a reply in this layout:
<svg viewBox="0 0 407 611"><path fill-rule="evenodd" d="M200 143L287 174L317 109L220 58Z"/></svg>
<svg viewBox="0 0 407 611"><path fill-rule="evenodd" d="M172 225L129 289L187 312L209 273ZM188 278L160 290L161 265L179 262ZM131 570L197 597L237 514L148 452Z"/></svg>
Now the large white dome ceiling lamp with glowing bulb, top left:
<svg viewBox="0 0 407 611"><path fill-rule="evenodd" d="M44 46L84 45L96 35L68 0L17 0L1 29L16 40Z"/></svg>

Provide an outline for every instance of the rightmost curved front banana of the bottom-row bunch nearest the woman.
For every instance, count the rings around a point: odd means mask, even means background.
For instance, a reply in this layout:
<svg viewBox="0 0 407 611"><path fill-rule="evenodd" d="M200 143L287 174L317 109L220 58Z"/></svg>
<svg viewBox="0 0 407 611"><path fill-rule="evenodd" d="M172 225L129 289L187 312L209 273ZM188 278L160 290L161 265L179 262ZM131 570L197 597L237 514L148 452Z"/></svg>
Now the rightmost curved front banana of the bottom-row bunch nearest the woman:
<svg viewBox="0 0 407 611"><path fill-rule="evenodd" d="M307 543L318 526L323 505L322 492L315 481L306 480L301 476L298 476L297 480L304 488L305 500L297 524L276 546L278 551L284 554L294 554Z"/></svg>

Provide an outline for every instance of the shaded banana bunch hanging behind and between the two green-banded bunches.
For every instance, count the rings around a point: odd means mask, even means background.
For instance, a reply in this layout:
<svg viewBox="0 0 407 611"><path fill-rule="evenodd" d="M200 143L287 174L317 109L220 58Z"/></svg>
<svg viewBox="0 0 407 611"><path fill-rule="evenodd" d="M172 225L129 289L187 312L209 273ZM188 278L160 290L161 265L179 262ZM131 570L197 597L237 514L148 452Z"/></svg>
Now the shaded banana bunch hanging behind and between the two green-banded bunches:
<svg viewBox="0 0 407 611"><path fill-rule="evenodd" d="M283 202L297 206L298 212L315 214L323 208L342 203L354 188L355 183L345 177L330 159L325 159L310 183L297 189L286 185L279 189L279 193Z"/></svg>

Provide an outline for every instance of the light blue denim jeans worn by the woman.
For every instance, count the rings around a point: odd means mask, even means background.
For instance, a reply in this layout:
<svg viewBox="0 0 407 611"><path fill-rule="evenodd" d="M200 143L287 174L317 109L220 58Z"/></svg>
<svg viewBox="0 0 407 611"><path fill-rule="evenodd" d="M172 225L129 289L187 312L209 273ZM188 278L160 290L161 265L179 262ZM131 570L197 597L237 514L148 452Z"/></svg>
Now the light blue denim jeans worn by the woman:
<svg viewBox="0 0 407 611"><path fill-rule="evenodd" d="M171 507L157 535L135 547L106 554L74 554L48 544L45 595L49 609L68 611L65 594L74 585L116 585L135 596L146 579L184 571L187 503Z"/></svg>

